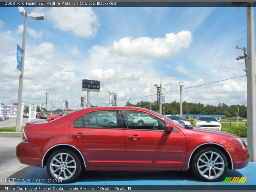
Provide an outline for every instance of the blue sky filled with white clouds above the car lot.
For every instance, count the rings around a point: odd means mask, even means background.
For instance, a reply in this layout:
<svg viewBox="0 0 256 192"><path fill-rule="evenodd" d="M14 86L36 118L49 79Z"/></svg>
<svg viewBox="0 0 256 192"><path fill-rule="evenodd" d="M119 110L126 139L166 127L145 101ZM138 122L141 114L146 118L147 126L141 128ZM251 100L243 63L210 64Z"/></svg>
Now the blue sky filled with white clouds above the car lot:
<svg viewBox="0 0 256 192"><path fill-rule="evenodd" d="M28 18L23 102L44 102L44 92L61 108L62 99L80 108L82 79L100 80L93 105L106 106L108 90L117 105L154 102L154 84L163 78L166 92L245 75L236 61L246 47L246 8L98 7L25 8L45 14ZM22 44L24 17L17 7L0 8L0 101L17 102L16 44ZM199 74L200 73L200 74ZM121 101L123 100L123 101ZM166 93L166 102L179 92ZM217 106L246 105L246 77L186 89L183 101ZM47 108L50 108L47 106Z"/></svg>

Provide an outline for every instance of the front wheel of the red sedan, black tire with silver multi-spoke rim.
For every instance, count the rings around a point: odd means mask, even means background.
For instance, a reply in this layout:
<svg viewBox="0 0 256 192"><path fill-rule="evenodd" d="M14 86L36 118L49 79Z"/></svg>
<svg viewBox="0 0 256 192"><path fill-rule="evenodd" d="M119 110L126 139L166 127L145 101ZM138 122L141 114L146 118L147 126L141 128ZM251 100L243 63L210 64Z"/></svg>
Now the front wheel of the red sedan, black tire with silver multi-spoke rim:
<svg viewBox="0 0 256 192"><path fill-rule="evenodd" d="M207 158L208 159L207 159ZM205 147L196 152L191 162L193 173L204 181L223 180L228 170L228 160L222 151Z"/></svg>

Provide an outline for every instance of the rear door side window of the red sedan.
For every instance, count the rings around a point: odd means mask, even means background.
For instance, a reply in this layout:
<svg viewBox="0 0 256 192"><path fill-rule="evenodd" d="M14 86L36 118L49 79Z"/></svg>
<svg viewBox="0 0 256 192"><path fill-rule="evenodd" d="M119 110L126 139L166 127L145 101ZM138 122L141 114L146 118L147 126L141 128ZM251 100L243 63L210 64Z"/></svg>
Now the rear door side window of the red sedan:
<svg viewBox="0 0 256 192"><path fill-rule="evenodd" d="M116 111L93 111L78 118L73 123L76 128L121 128L118 126Z"/></svg>

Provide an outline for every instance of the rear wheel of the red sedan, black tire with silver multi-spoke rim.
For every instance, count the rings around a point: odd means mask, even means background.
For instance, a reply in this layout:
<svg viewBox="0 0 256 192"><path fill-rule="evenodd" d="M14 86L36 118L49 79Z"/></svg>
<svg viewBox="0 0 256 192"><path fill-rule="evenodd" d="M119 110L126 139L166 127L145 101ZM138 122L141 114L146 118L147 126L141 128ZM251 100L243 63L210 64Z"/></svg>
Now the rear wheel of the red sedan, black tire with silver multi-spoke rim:
<svg viewBox="0 0 256 192"><path fill-rule="evenodd" d="M61 154L62 154L62 161L60 157ZM59 162L54 160L54 158L57 159ZM69 161L70 163L68 163ZM54 164L54 166L52 166L52 164ZM56 179L56 180L61 179L62 183L69 183L74 181L79 176L82 169L82 163L79 158L79 155L76 152L70 149L60 149L53 152L49 156L47 160L46 169L47 169L48 175L52 179ZM70 172L72 174L70 174ZM65 179L65 175L67 176L67 179Z"/></svg>

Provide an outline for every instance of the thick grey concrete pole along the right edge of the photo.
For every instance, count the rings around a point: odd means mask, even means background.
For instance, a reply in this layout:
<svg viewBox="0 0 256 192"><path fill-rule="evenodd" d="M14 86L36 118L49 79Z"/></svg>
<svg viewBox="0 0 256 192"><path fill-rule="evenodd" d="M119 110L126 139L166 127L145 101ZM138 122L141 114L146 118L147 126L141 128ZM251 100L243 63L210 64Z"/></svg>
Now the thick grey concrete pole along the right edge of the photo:
<svg viewBox="0 0 256 192"><path fill-rule="evenodd" d="M250 161L256 161L256 83L253 4L247 4L247 138Z"/></svg>

